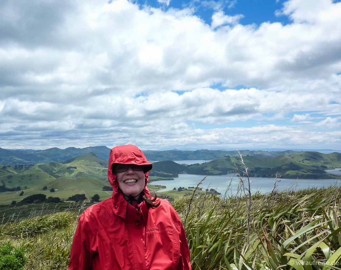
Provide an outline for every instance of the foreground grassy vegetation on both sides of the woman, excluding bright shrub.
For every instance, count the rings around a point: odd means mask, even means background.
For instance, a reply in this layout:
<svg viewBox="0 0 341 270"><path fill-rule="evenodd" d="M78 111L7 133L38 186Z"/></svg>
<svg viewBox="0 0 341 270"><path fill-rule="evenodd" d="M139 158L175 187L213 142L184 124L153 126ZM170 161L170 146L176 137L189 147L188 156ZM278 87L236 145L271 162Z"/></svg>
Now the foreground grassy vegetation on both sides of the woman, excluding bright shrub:
<svg viewBox="0 0 341 270"><path fill-rule="evenodd" d="M341 188L274 191L270 197L252 196L249 243L245 197L201 194L175 200L193 269L340 269ZM24 269L67 269L79 213L6 223L0 226L0 246L22 248Z"/></svg>

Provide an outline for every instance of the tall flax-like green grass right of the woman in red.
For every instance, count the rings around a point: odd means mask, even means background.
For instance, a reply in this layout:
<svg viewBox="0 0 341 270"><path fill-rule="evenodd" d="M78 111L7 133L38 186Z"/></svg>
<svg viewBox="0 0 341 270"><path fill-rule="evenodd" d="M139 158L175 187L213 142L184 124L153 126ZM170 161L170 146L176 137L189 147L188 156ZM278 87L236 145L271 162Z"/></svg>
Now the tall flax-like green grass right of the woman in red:
<svg viewBox="0 0 341 270"><path fill-rule="evenodd" d="M273 192L270 204L269 197L252 197L249 248L245 198L196 197L186 227L193 269L341 269L341 189ZM181 216L188 203L175 201Z"/></svg>

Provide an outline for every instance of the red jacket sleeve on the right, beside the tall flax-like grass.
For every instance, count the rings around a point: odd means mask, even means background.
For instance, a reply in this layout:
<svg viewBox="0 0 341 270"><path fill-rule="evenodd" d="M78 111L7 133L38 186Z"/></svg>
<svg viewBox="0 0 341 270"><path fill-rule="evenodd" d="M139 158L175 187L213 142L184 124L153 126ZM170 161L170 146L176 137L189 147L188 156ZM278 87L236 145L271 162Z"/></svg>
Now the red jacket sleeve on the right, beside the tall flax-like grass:
<svg viewBox="0 0 341 270"><path fill-rule="evenodd" d="M187 243L187 238L185 234L185 230L183 229L183 225L181 222L181 219L178 215L178 213L175 211L175 209L172 207L172 216L173 221L175 223L175 226L179 233L180 238L180 255L179 255L179 263L177 266L177 270L191 270L191 255L190 250Z"/></svg>

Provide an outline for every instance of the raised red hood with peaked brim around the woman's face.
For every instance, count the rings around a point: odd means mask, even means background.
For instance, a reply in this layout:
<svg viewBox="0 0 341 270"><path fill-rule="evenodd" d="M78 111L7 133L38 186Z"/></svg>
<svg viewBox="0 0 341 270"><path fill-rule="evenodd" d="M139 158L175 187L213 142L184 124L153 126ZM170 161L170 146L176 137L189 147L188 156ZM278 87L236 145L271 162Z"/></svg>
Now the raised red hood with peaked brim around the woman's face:
<svg viewBox="0 0 341 270"><path fill-rule="evenodd" d="M112 172L112 166L115 163L145 165L145 188L142 192L146 196L150 196L150 192L147 188L147 182L148 171L151 170L152 165L137 146L128 144L119 145L110 150L108 164L108 180L110 185L112 185L113 187L112 198L116 197L115 196L116 193L121 193L118 189L119 185L118 182L116 181L116 174Z"/></svg>

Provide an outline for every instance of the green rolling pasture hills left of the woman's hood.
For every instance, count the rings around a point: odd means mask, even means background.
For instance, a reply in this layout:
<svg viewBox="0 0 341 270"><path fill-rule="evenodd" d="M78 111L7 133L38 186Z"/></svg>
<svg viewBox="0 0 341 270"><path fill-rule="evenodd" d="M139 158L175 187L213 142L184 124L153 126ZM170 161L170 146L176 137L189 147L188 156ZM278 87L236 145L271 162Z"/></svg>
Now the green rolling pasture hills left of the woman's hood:
<svg viewBox="0 0 341 270"><path fill-rule="evenodd" d="M94 194L99 194L101 200L109 198L112 191L102 190L103 186L110 187L107 166L108 161L89 153L64 163L0 167L0 185L5 185L6 188L18 186L21 188L19 191L0 192L0 204L9 204L13 200L21 201L29 195L38 193L45 194L46 197L59 197L62 200L75 194L85 194L89 200ZM47 187L46 190L43 190L44 186ZM51 193L51 188L56 191ZM148 184L148 188L154 191L165 186ZM24 191L23 196L19 196L21 191Z"/></svg>

